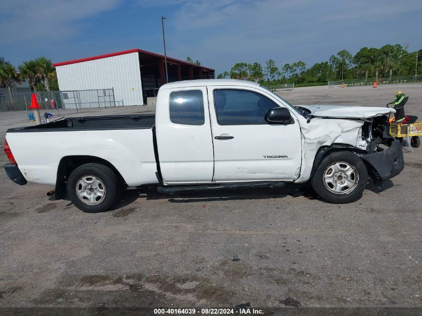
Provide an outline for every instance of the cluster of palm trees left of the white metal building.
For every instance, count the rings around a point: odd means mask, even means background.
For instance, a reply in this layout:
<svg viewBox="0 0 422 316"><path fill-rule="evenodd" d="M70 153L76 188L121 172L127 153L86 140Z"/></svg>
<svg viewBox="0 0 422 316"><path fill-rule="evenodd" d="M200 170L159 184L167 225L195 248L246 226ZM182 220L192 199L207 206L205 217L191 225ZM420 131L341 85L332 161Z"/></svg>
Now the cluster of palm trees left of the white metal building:
<svg viewBox="0 0 422 316"><path fill-rule="evenodd" d="M34 91L58 90L57 75L50 59L39 57L27 60L16 69L0 57L0 84L7 88L11 100L12 82L21 84L23 80L27 80Z"/></svg>

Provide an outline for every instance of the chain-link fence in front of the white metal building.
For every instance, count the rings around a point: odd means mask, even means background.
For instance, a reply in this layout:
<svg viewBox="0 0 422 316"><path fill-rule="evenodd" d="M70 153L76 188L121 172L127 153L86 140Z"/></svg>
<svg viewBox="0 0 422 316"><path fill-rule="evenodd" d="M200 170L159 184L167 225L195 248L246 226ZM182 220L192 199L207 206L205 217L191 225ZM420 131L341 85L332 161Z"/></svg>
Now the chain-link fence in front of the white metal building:
<svg viewBox="0 0 422 316"><path fill-rule="evenodd" d="M40 91L31 93L0 94L0 112L26 111L31 109L32 93L35 93L40 110L60 115L60 111L79 113L92 109L123 106L123 100L115 100L114 89L71 91Z"/></svg>

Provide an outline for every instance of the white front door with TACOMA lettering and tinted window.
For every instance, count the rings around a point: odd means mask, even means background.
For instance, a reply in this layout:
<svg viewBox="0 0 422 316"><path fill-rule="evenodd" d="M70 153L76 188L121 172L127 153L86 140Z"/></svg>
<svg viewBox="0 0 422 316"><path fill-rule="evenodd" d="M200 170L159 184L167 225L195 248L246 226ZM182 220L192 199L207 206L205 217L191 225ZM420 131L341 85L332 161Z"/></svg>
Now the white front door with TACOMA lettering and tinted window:
<svg viewBox="0 0 422 316"><path fill-rule="evenodd" d="M301 132L292 124L265 121L268 109L284 106L255 88L208 88L216 182L287 180L299 177Z"/></svg>

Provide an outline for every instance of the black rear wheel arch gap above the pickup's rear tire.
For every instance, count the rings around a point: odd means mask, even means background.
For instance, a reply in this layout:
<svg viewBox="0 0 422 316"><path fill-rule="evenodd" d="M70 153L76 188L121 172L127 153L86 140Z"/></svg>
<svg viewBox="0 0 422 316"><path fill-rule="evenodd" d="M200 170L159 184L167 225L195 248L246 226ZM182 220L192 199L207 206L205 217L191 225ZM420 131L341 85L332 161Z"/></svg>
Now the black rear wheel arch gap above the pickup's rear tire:
<svg viewBox="0 0 422 316"><path fill-rule="evenodd" d="M102 159L96 156L65 156L60 159L57 167L57 176L56 176L56 184L55 184L55 198L62 199L66 195L66 181L70 175L70 173L75 170L77 167L84 165L86 163L98 163L104 166L109 167L117 176L120 183L125 183L120 172L117 168L110 163L109 161Z"/></svg>

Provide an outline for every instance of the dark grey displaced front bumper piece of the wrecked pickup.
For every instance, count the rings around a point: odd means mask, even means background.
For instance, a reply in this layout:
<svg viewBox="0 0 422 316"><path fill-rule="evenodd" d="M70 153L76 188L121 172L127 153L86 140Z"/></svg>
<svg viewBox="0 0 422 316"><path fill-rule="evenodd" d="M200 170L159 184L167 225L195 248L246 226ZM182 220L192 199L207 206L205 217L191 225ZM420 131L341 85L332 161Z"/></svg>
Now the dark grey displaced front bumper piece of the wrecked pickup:
<svg viewBox="0 0 422 316"><path fill-rule="evenodd" d="M393 141L389 148L362 156L362 159L374 167L378 173L375 178L381 181L397 176L405 168L402 146L397 139Z"/></svg>

